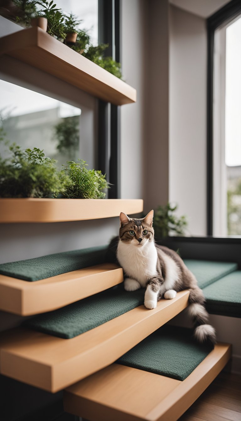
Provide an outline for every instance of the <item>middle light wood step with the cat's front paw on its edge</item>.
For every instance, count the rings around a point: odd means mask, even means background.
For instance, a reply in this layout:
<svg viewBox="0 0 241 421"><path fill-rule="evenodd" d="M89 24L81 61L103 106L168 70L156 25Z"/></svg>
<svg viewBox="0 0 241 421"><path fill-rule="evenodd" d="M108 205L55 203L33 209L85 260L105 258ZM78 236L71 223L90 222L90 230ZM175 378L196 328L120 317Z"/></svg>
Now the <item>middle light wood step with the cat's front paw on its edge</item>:
<svg viewBox="0 0 241 421"><path fill-rule="evenodd" d="M57 392L106 367L188 305L189 291L157 308L139 306L72 339L17 328L0 338L0 372Z"/></svg>

